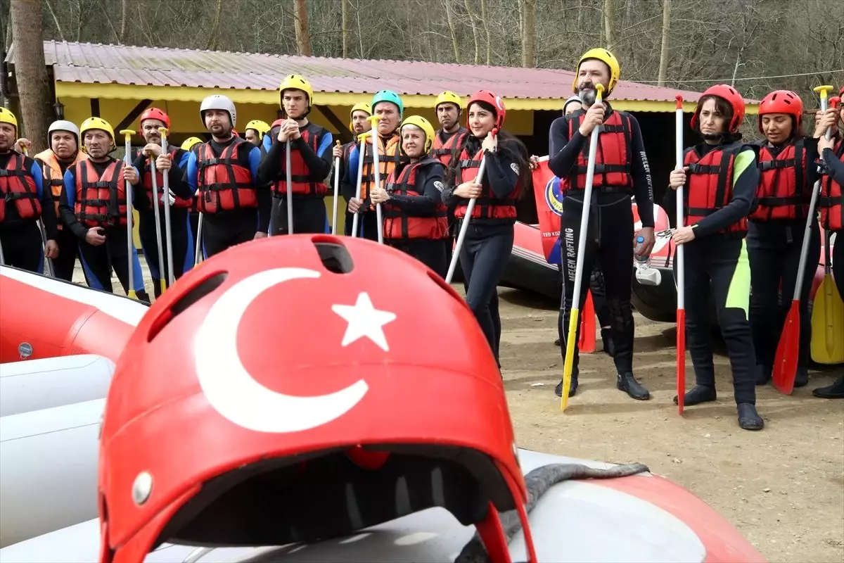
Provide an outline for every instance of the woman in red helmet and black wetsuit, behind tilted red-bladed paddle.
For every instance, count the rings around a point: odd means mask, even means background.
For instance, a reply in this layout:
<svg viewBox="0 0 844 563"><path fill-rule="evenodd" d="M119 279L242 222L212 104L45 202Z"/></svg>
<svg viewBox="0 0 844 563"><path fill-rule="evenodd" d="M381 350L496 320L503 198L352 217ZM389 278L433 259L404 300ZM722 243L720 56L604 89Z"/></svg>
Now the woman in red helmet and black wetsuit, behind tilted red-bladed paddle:
<svg viewBox="0 0 844 563"><path fill-rule="evenodd" d="M752 298L750 328L756 352L756 385L771 379L776 342L782 333L785 311L778 303L789 303L797 282L803 233L809 214L812 187L817 180L817 141L802 131L803 101L794 92L776 90L759 106L758 207L750 214L747 248L750 258ZM817 264L820 257L820 230L812 221L806 263ZM800 295L800 355L794 387L809 382L809 343L812 320L809 290L814 267L805 269Z"/></svg>

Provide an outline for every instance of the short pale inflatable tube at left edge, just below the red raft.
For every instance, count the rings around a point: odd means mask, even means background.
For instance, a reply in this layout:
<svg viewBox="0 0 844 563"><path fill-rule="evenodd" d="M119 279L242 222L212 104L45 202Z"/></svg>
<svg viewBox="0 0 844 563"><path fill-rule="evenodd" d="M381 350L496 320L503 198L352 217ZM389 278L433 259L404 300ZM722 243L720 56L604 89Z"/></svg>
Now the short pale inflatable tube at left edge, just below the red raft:
<svg viewBox="0 0 844 563"><path fill-rule="evenodd" d="M106 398L114 368L91 354L0 364L0 417Z"/></svg>

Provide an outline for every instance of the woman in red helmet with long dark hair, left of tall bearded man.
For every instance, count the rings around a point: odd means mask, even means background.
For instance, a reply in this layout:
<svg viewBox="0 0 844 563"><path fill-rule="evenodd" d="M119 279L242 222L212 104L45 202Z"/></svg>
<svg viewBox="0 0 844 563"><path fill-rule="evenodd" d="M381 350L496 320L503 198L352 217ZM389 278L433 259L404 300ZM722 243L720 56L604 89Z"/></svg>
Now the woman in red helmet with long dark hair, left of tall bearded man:
<svg viewBox="0 0 844 563"><path fill-rule="evenodd" d="M489 90L479 90L469 98L468 135L455 149L458 158L452 159L446 170L450 187L442 192L446 206L457 206L455 219L464 220L469 200L477 199L460 249L460 267L466 302L496 360L501 338L496 288L513 248L517 199L532 181L527 149L501 129L505 116L504 101ZM478 183L475 178L482 160L486 161L484 177Z"/></svg>

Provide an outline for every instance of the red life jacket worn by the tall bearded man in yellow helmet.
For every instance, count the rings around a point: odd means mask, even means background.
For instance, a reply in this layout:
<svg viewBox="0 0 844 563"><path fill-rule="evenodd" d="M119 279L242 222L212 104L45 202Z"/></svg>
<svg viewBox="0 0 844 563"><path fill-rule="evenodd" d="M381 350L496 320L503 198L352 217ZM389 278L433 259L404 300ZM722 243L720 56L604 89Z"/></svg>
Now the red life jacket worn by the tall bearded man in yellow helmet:
<svg viewBox="0 0 844 563"><path fill-rule="evenodd" d="M569 138L572 138L586 116L578 111L569 118ZM595 176L592 189L601 192L633 193L633 176L630 175L633 137L630 133L630 116L613 111L609 118L598 126L598 154L595 155ZM589 139L577 155L577 161L569 174L569 191L586 189L586 173L589 164Z"/></svg>

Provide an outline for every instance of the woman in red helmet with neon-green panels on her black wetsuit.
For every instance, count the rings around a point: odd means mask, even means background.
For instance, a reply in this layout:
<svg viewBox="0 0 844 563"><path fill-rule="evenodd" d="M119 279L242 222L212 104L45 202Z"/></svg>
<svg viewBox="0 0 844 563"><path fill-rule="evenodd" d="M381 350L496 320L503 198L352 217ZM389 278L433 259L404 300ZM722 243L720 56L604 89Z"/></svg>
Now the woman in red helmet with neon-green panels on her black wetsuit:
<svg viewBox="0 0 844 563"><path fill-rule="evenodd" d="M691 127L704 142L686 149L684 166L671 172L670 186L684 186L683 227L674 242L685 245L686 338L695 365L695 387L686 406L716 400L709 326L710 295L727 342L738 425L761 430L756 412L755 353L748 321L750 264L744 238L759 169L753 147L741 141L744 99L731 86L707 89ZM674 398L677 402L677 398Z"/></svg>

